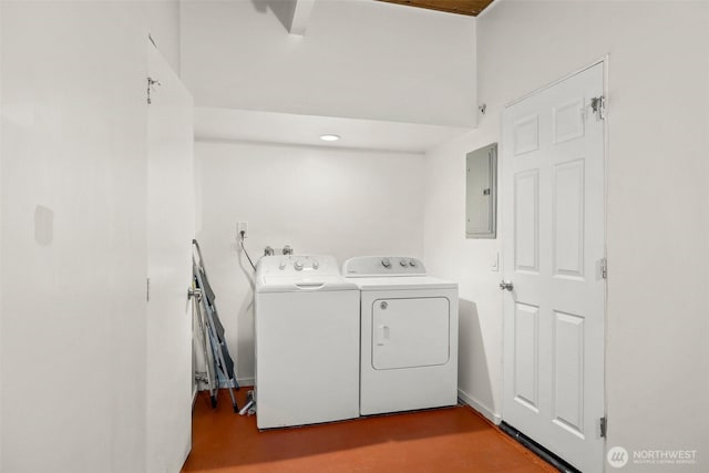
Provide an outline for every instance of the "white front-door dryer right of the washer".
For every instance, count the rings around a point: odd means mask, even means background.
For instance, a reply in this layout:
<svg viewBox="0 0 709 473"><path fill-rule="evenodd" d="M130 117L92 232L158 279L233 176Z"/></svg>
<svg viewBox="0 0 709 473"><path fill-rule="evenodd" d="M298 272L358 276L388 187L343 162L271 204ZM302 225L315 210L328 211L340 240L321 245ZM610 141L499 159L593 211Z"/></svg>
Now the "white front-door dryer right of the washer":
<svg viewBox="0 0 709 473"><path fill-rule="evenodd" d="M360 288L362 415L458 403L458 285L409 257L348 259Z"/></svg>

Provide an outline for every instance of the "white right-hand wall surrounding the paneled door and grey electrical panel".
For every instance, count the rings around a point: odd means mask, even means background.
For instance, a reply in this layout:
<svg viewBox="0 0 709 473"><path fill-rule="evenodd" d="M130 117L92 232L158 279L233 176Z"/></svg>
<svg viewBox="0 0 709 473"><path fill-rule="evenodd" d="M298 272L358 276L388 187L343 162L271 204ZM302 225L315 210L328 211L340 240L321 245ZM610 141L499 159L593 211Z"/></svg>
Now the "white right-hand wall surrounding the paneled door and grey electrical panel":
<svg viewBox="0 0 709 473"><path fill-rule="evenodd" d="M709 454L708 2L496 1L477 21L479 100L487 114L463 141L427 155L424 254L476 304L477 317L461 315L470 323L461 327L461 343L471 357L461 360L461 387L481 403L492 392L490 407L500 412L502 305L499 274L489 269L499 245L464 239L465 152L499 141L505 103L606 53L607 445L699 450L699 465L676 470L702 471Z"/></svg>

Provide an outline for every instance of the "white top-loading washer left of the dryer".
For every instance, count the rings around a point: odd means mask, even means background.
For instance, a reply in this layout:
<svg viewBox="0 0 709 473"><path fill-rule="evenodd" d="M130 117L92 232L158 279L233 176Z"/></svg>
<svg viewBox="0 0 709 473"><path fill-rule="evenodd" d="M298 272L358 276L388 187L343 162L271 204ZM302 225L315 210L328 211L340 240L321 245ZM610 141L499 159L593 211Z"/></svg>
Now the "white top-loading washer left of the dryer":
<svg viewBox="0 0 709 473"><path fill-rule="evenodd" d="M255 332L259 429L359 417L359 290L333 257L263 257Z"/></svg>

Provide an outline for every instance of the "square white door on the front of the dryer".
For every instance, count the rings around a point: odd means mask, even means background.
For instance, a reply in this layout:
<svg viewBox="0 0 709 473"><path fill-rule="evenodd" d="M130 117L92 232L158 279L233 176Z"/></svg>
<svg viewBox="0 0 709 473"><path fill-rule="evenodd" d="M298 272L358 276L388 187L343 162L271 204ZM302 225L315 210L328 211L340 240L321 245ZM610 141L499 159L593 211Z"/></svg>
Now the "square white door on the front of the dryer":
<svg viewBox="0 0 709 473"><path fill-rule="evenodd" d="M372 316L372 367L376 370L448 362L450 301L446 298L377 299Z"/></svg>

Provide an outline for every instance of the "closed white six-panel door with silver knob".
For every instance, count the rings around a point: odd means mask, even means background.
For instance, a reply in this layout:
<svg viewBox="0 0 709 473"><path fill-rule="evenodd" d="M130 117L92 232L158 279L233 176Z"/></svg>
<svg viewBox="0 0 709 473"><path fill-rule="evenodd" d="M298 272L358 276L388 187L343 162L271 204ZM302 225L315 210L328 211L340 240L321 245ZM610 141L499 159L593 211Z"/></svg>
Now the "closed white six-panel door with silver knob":
<svg viewBox="0 0 709 473"><path fill-rule="evenodd" d="M503 420L603 471L604 125L598 63L503 113ZM507 284L508 282L508 284Z"/></svg>

